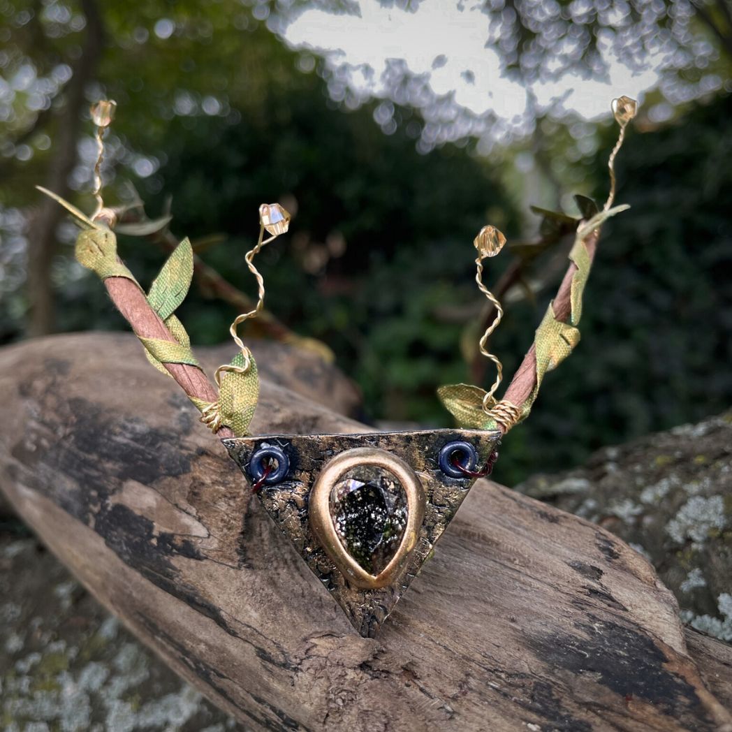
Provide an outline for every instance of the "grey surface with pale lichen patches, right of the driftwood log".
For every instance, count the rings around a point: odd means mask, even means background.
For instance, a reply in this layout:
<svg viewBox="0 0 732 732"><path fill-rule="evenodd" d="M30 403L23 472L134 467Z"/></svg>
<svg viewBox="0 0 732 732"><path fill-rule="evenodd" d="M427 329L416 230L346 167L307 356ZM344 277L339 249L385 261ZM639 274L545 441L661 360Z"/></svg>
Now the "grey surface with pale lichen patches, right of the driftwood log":
<svg viewBox="0 0 732 732"><path fill-rule="evenodd" d="M637 547L687 623L732 640L732 411L605 447L518 490Z"/></svg>

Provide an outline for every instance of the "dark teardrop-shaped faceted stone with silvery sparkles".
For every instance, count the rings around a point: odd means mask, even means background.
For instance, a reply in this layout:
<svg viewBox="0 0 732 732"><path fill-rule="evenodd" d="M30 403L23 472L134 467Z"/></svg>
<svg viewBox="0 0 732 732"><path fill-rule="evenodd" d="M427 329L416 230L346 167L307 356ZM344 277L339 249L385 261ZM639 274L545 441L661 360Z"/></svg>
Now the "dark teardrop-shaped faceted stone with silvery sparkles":
<svg viewBox="0 0 732 732"><path fill-rule="evenodd" d="M407 496L391 472L378 466L357 466L333 487L330 515L348 553L367 572L378 575L404 536Z"/></svg>

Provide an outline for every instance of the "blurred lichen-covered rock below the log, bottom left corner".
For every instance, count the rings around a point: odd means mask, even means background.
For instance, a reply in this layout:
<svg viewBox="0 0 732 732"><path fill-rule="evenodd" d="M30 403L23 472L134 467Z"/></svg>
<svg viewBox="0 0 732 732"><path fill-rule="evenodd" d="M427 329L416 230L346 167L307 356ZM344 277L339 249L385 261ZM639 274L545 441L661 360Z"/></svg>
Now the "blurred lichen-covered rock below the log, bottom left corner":
<svg viewBox="0 0 732 732"><path fill-rule="evenodd" d="M34 537L0 533L0 728L240 729L143 648Z"/></svg>

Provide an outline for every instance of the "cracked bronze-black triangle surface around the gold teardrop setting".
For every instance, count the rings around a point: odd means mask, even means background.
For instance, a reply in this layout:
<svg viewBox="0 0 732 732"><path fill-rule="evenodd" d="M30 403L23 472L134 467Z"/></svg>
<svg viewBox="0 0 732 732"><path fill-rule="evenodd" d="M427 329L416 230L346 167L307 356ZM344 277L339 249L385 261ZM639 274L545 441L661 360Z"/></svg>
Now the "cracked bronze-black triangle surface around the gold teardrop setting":
<svg viewBox="0 0 732 732"><path fill-rule="evenodd" d="M471 477L458 479L444 474L439 467L440 450L451 441L464 440L475 447L482 465L488 461L499 438L498 432L482 430L425 430L362 435L270 435L230 438L223 442L247 480L253 452L266 445L285 451L290 462L288 474L277 485L262 488L261 502L356 630L363 636L373 637L417 576L475 482ZM310 491L326 463L346 450L359 447L385 450L408 463L422 483L426 498L425 517L414 550L401 575L381 589L359 589L348 583L315 537L308 515Z"/></svg>

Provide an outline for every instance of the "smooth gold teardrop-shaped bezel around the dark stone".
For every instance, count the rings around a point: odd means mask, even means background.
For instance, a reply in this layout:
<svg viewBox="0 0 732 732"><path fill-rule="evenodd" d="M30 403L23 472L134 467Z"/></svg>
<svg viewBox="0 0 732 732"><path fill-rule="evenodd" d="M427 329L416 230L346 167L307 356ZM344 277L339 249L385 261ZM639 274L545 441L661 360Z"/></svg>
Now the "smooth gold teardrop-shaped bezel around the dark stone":
<svg viewBox="0 0 732 732"><path fill-rule="evenodd" d="M348 553L338 538L330 515L330 494L335 483L346 471L363 465L378 466L394 474L402 484L407 497L408 515L404 536L395 555L378 575L367 572ZM404 460L386 450L356 447L336 455L315 481L310 493L310 527L348 583L363 589L378 589L397 579L409 554L417 545L419 529L425 519L425 504L422 483Z"/></svg>

